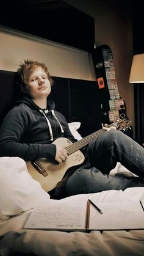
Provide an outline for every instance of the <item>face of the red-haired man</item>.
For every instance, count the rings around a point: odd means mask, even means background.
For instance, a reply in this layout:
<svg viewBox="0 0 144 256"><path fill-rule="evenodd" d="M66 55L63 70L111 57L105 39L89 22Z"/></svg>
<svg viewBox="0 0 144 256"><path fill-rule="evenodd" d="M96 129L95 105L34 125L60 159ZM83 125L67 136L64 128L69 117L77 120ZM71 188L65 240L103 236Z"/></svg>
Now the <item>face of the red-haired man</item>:
<svg viewBox="0 0 144 256"><path fill-rule="evenodd" d="M26 93L36 100L38 98L48 97L51 92L51 84L48 76L41 67L35 68L35 70L29 76L28 84L26 85Z"/></svg>

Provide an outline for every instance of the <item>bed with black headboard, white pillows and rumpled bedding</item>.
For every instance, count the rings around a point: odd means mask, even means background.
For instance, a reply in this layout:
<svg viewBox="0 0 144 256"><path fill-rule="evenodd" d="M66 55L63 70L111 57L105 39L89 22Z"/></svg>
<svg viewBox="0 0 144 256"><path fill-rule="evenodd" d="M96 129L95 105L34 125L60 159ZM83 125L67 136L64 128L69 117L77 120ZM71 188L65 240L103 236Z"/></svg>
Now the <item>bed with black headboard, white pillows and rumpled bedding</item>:
<svg viewBox="0 0 144 256"><path fill-rule="evenodd" d="M54 78L51 99L62 112L76 139L81 139L101 128L104 116L101 112L101 92L94 81ZM1 121L17 97L15 72L0 71ZM82 93L81 93L82 92ZM65 106L63 106L63 93ZM80 97L81 96L81 97ZM94 99L95 98L95 99ZM87 106L85 106L87 102ZM95 106L95 108L94 108ZM87 108L86 108L87 107ZM77 111L78 109L78 111ZM88 111L92 120L87 126ZM117 163L110 175L123 173L134 175ZM121 202L140 200L144 204L144 188L128 188L125 191L103 191L61 199L71 205L96 199L97 202ZM21 158L0 158L0 255L144 255L144 230L95 230L91 232L62 232L29 230L23 226L37 205L48 203L46 193L27 172Z"/></svg>

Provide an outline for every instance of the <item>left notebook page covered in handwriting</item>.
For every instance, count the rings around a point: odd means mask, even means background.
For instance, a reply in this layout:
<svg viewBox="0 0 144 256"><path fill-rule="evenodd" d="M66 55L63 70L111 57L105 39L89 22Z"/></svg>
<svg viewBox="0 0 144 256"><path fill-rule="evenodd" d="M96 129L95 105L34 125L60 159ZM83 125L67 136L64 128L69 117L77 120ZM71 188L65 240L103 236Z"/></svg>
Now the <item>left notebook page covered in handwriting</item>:
<svg viewBox="0 0 144 256"><path fill-rule="evenodd" d="M85 229L86 203L57 203L35 207L24 229L81 230Z"/></svg>

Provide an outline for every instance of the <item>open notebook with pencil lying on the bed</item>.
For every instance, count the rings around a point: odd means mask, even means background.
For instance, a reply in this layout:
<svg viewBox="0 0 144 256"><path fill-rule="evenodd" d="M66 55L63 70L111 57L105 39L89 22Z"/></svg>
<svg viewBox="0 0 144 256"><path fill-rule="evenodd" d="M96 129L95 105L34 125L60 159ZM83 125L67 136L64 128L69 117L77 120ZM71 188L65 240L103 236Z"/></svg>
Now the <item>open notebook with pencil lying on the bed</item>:
<svg viewBox="0 0 144 256"><path fill-rule="evenodd" d="M24 229L41 230L129 230L144 229L144 210L140 201L95 202L101 213L88 202L49 200L35 207ZM103 214L102 214L103 213Z"/></svg>

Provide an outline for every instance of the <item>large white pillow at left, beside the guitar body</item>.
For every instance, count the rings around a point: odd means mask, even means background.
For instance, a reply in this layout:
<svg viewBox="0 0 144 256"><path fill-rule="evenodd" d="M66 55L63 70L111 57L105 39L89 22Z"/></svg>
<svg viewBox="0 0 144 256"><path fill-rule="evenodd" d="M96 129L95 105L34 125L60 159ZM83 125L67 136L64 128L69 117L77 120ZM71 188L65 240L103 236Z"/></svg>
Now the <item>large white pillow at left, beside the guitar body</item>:
<svg viewBox="0 0 144 256"><path fill-rule="evenodd" d="M0 219L29 210L48 199L49 194L31 177L23 159L0 158Z"/></svg>

